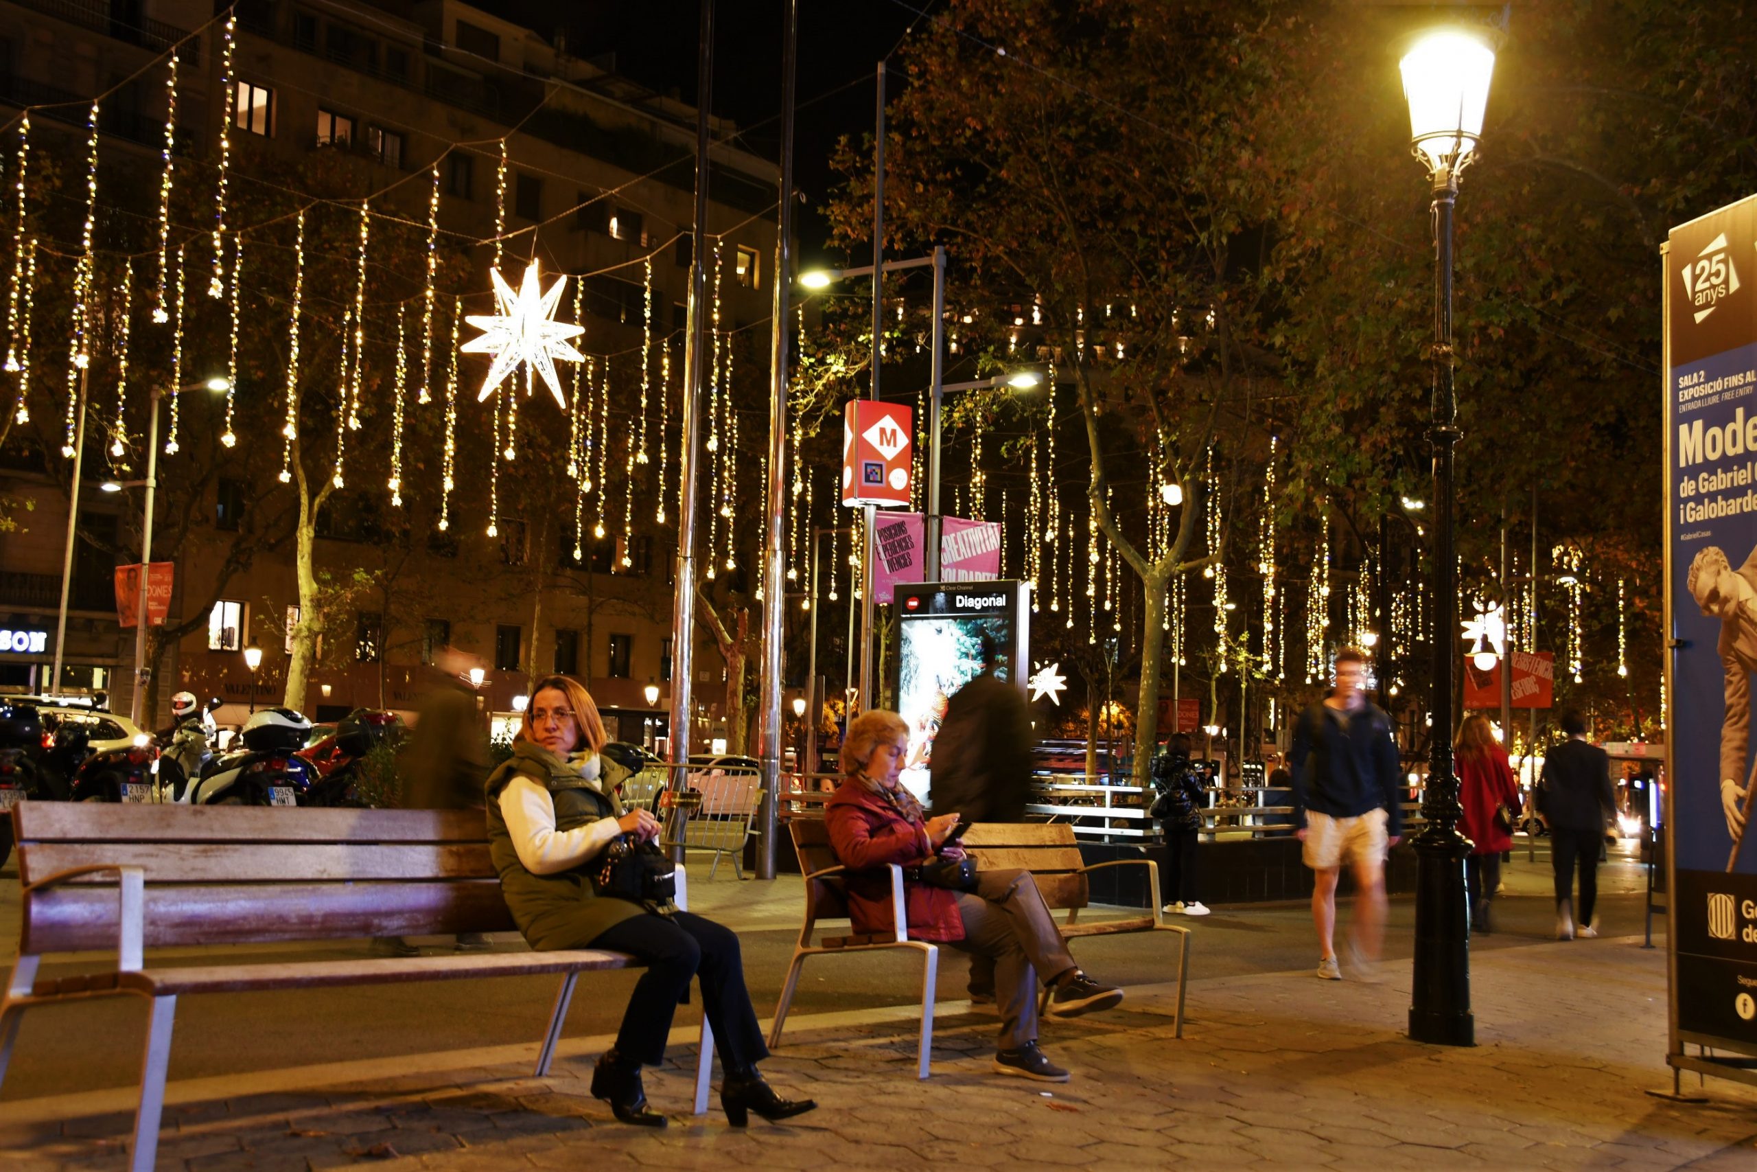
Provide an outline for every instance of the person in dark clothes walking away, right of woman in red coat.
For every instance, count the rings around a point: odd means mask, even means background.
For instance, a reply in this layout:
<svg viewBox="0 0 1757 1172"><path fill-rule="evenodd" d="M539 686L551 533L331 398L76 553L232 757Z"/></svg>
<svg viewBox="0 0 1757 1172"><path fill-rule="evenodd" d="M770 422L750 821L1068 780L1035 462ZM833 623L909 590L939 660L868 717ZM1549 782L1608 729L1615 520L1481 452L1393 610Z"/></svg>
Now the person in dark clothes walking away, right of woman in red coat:
<svg viewBox="0 0 1757 1172"><path fill-rule="evenodd" d="M1604 828L1616 814L1611 796L1611 757L1587 743L1587 719L1562 713L1567 740L1550 750L1537 777L1537 810L1550 824L1550 863L1555 866L1555 938L1590 940L1599 935L1599 856ZM1580 866L1580 905L1571 900ZM1578 917L1574 915L1578 912Z"/></svg>

